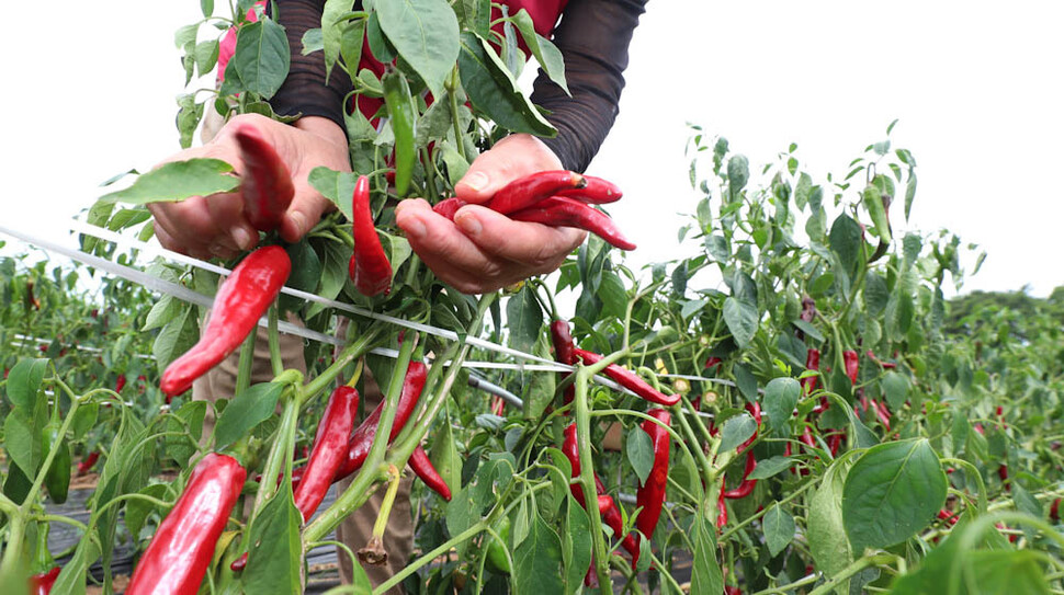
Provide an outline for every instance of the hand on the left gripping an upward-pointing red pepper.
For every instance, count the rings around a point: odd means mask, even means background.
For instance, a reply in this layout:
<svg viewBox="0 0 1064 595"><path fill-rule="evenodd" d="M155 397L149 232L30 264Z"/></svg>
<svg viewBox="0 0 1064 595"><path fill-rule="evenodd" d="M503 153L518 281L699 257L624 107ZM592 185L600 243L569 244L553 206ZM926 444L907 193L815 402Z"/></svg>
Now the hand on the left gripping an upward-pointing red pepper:
<svg viewBox="0 0 1064 595"><path fill-rule="evenodd" d="M214 158L231 164L239 174L244 163L233 130L240 123L258 128L292 174L295 197L281 222L281 237L288 242L298 241L318 222L321 214L333 206L314 190L307 175L319 165L338 171L351 170L347 135L324 117L303 117L290 126L264 116L245 114L226 123L206 145L181 151L165 162ZM231 259L254 248L259 241L258 231L244 216L239 188L231 193L194 196L180 203L152 203L148 209L155 216L156 236L163 248L191 256Z"/></svg>

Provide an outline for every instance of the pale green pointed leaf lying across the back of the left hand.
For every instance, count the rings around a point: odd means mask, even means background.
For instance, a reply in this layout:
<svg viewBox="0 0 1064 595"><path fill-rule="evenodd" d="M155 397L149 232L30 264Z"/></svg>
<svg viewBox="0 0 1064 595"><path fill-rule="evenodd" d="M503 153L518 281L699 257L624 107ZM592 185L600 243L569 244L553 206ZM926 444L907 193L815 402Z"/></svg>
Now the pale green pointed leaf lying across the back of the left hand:
<svg viewBox="0 0 1064 595"><path fill-rule="evenodd" d="M231 172L233 165L218 159L173 161L142 174L125 190L104 194L100 201L146 205L230 192L240 185L240 179L229 175Z"/></svg>

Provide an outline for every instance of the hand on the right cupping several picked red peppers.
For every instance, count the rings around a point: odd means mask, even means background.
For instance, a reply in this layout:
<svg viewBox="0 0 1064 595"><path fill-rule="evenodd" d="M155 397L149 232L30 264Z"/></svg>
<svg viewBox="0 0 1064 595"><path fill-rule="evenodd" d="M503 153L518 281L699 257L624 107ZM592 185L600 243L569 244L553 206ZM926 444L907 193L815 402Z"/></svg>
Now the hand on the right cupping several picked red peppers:
<svg viewBox="0 0 1064 595"><path fill-rule="evenodd" d="M480 153L456 184L459 198L473 204L459 209L454 222L419 198L401 201L395 220L440 279L467 294L494 291L554 271L587 237L579 229L513 221L478 206L518 178L561 169L540 139L511 135Z"/></svg>

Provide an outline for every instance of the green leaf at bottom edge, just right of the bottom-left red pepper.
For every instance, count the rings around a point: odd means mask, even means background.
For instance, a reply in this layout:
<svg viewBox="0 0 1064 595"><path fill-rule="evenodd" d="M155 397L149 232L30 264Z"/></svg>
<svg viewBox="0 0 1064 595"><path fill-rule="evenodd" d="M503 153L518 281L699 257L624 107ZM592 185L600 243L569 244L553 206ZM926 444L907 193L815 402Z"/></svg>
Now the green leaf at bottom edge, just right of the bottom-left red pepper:
<svg viewBox="0 0 1064 595"><path fill-rule="evenodd" d="M303 515L292 501L291 485L285 483L251 525L248 568L240 575L246 593L290 595L302 592L302 524Z"/></svg>

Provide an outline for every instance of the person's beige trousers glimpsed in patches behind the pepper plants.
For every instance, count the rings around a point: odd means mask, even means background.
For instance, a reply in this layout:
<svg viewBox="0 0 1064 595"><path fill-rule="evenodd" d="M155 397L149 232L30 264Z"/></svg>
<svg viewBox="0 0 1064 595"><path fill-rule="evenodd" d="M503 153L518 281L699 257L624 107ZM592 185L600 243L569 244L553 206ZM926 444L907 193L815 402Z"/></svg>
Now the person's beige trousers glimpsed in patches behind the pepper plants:
<svg viewBox="0 0 1064 595"><path fill-rule="evenodd" d="M298 324L299 321L293 316L288 321ZM254 362L251 368L251 382L267 382L273 378L273 369L270 366L270 348L268 344L269 333L265 329L259 328L254 343ZM281 357L284 361L285 369L297 369L306 373L306 364L303 359L303 339L281 334ZM192 399L197 401L215 401L217 399L231 399L236 388L237 365L239 362L239 351L227 357L220 365L201 377L192 386ZM365 411L373 411L377 403L383 399L381 388L369 376L366 370ZM208 408L207 419L203 422L204 436L211 435L214 430L214 415ZM351 483L351 478L337 484L340 493ZM387 581L396 572L406 567L414 551L414 515L410 508L410 487L414 480L407 469L403 481L399 483L399 493L396 496L395 505L392 507L392 515L388 517L388 528L384 536L384 548L388 552L388 559L383 565L363 565L370 582L376 586ZM337 540L358 552L362 549L373 533L373 523L377 518L381 510L381 502L384 500L384 490L377 490L373 496L351 516L343 519L337 527ZM340 567L340 579L344 584L352 582L353 568L351 559L343 550L337 549L337 559ZM403 595L401 586L388 591L389 595Z"/></svg>

